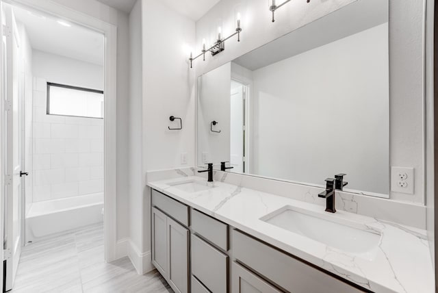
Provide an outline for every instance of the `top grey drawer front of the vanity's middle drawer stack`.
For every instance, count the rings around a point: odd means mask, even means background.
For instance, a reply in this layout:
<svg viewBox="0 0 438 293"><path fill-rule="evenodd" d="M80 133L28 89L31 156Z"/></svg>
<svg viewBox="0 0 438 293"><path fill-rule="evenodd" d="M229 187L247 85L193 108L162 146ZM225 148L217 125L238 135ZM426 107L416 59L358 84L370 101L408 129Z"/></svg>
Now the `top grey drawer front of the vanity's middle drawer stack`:
<svg viewBox="0 0 438 293"><path fill-rule="evenodd" d="M217 245L220 249L228 251L228 225L210 216L192 209L192 230Z"/></svg>

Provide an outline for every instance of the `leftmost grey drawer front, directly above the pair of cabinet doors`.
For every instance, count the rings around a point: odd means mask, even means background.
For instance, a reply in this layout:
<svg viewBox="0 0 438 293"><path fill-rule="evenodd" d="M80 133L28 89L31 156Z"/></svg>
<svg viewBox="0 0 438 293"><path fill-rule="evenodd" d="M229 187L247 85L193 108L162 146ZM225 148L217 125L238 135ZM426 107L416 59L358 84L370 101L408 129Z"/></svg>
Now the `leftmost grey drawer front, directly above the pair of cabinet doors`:
<svg viewBox="0 0 438 293"><path fill-rule="evenodd" d="M168 216L174 218L175 220L181 222L181 224L188 227L189 225L189 207L171 199L169 196L157 192L157 190L151 191L152 195L152 205L158 207L163 212L168 214Z"/></svg>

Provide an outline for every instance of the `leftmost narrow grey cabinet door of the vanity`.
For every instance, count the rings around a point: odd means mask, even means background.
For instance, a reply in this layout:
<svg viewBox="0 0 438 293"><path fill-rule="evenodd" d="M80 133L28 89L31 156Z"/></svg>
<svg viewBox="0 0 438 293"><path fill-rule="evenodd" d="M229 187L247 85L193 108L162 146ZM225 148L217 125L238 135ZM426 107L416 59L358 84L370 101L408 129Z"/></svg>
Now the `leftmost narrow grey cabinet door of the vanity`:
<svg viewBox="0 0 438 293"><path fill-rule="evenodd" d="M153 207L151 220L152 263L163 277L166 277L168 272L167 216Z"/></svg>

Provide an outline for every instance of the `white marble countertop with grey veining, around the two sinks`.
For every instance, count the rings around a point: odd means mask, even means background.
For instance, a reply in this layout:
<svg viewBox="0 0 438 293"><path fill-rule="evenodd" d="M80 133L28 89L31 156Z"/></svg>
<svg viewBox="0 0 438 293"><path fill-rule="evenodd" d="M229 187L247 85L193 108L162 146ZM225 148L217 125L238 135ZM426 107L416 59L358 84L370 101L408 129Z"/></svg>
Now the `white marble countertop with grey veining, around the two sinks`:
<svg viewBox="0 0 438 293"><path fill-rule="evenodd" d="M373 292L435 290L426 231L422 229L344 211L329 214L320 205L223 182L209 183L214 188L200 192L184 192L170 185L185 181L206 180L183 177L149 182L148 186ZM361 229L381 233L381 241L370 254L357 255L260 220L286 205L321 214L335 222L353 222Z"/></svg>

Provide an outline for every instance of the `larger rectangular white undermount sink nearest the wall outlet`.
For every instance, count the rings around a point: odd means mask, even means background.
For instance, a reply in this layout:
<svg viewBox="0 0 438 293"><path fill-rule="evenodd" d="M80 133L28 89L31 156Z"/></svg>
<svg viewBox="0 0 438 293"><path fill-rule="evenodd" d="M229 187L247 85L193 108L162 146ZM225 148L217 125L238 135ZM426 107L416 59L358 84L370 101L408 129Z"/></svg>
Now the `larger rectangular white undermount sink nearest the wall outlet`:
<svg viewBox="0 0 438 293"><path fill-rule="evenodd" d="M381 240L381 233L377 231L365 231L365 227L361 229L352 224L335 222L328 216L290 206L263 216L261 220L348 253L368 254L378 247Z"/></svg>

